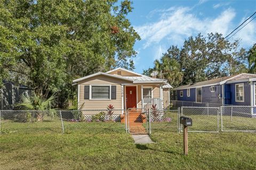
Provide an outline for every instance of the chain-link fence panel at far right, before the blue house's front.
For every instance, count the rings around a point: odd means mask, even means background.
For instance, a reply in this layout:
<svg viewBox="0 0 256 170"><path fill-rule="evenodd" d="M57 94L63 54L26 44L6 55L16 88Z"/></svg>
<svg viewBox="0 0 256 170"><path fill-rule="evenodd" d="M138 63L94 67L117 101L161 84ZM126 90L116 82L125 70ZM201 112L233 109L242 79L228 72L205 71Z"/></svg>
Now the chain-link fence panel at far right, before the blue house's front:
<svg viewBox="0 0 256 170"><path fill-rule="evenodd" d="M256 132L256 107L221 107L221 131Z"/></svg>

